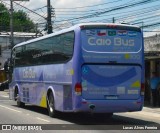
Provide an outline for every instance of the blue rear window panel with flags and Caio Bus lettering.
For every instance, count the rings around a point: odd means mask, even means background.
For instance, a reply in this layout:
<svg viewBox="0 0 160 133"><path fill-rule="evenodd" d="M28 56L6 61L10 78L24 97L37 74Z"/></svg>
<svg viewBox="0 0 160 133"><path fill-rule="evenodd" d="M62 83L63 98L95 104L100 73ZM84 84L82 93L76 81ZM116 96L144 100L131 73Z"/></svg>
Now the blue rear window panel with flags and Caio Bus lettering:
<svg viewBox="0 0 160 133"><path fill-rule="evenodd" d="M83 49L88 52L138 52L141 33L116 29L88 29L81 32Z"/></svg>

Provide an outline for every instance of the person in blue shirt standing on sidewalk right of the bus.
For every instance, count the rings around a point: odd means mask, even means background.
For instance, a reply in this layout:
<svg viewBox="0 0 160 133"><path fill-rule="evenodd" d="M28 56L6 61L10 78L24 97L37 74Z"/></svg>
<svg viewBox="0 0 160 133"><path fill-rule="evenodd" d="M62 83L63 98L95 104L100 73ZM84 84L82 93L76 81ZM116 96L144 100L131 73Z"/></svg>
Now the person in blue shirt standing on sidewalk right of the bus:
<svg viewBox="0 0 160 133"><path fill-rule="evenodd" d="M157 76L156 72L152 72L152 78L150 80L151 86L151 97L152 97L152 105L155 107L158 102L158 89L157 87L160 84L160 77Z"/></svg>

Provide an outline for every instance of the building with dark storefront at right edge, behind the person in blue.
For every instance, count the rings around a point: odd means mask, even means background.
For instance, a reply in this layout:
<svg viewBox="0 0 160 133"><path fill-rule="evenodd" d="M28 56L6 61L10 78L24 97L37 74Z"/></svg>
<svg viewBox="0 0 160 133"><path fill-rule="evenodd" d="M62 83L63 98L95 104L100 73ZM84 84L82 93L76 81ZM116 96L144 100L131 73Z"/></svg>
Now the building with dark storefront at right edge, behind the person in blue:
<svg viewBox="0 0 160 133"><path fill-rule="evenodd" d="M160 77L160 35L150 36L144 38L144 48L145 48L145 101L154 105L153 101L160 102L153 98L150 78L152 77L152 72L156 72L156 75ZM160 83L159 83L160 85ZM159 86L158 85L158 86ZM158 87L157 86L157 87ZM157 89L157 97L160 97L160 88Z"/></svg>

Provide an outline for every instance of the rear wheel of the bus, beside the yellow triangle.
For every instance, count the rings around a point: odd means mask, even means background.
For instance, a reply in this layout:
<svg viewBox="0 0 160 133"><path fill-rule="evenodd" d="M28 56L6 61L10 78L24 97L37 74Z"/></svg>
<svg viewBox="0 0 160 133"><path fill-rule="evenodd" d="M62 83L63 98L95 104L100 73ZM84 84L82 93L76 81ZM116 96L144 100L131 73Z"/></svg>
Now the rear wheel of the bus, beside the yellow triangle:
<svg viewBox="0 0 160 133"><path fill-rule="evenodd" d="M57 111L55 110L54 97L52 93L50 93L48 96L48 112L50 117L57 116Z"/></svg>

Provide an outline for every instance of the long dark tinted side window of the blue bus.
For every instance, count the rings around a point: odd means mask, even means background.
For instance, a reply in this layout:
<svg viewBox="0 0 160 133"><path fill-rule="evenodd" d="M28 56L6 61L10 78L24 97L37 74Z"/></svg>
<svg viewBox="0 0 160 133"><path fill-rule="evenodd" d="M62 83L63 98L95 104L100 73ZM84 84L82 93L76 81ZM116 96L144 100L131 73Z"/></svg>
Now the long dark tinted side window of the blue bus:
<svg viewBox="0 0 160 133"><path fill-rule="evenodd" d="M16 66L68 61L73 54L74 32L57 35L16 49Z"/></svg>

